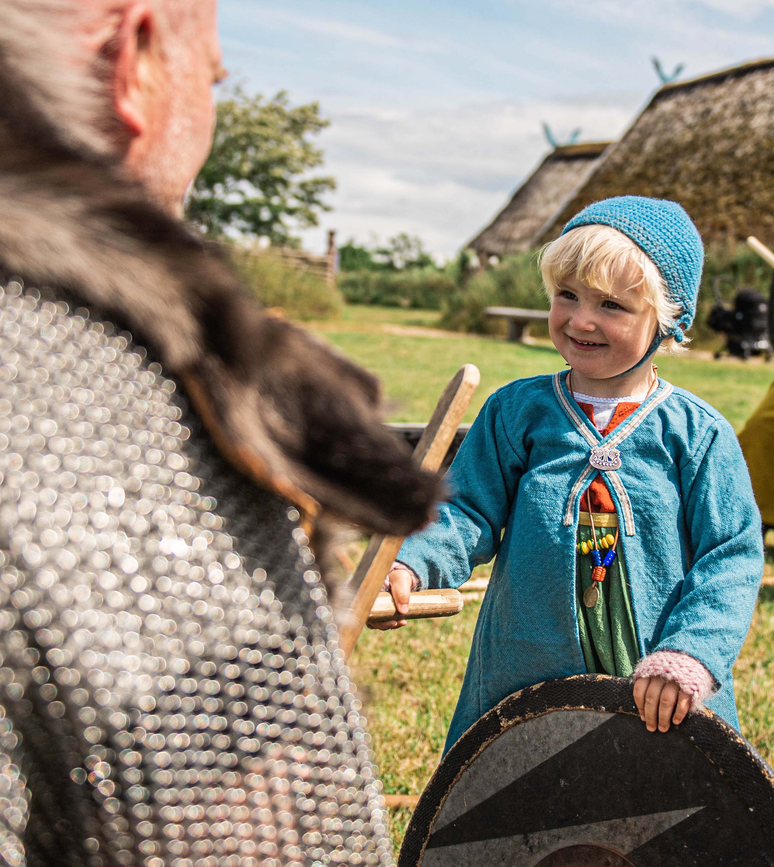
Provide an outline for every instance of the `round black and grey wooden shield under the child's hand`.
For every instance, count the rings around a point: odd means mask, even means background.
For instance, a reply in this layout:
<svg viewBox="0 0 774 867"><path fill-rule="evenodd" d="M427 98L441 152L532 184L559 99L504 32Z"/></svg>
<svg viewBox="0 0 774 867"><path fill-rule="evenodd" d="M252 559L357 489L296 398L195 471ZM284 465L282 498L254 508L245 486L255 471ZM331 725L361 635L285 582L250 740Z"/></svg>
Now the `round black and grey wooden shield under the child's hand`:
<svg viewBox="0 0 774 867"><path fill-rule="evenodd" d="M632 681L580 675L485 714L419 800L399 867L774 864L774 771L711 711L648 732Z"/></svg>

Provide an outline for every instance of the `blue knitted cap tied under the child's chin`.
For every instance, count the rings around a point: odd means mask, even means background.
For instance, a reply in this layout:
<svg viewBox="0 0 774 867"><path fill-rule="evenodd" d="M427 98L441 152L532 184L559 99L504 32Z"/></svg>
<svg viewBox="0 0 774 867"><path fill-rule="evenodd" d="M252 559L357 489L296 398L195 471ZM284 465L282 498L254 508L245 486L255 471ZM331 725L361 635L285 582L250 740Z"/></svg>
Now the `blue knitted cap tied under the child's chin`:
<svg viewBox="0 0 774 867"><path fill-rule="evenodd" d="M704 245L685 210L668 199L616 196L587 205L567 223L562 235L581 225L609 225L631 238L653 259L669 297L683 311L672 329L656 335L642 361L653 355L667 337L682 342L684 329L691 325L696 313L704 265Z"/></svg>

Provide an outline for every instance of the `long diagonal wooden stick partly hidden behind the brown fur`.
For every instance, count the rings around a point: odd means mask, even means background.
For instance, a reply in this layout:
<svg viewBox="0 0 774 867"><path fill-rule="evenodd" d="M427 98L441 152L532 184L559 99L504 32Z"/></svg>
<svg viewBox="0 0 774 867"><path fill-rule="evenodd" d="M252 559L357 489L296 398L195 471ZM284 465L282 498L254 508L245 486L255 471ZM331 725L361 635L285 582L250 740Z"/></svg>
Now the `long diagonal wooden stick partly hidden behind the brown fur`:
<svg viewBox="0 0 774 867"><path fill-rule="evenodd" d="M476 365L465 364L449 382L414 450L414 460L423 469L436 473L443 463L479 381L481 374ZM339 629L339 646L344 650L345 657L348 657L355 647L371 614L371 607L382 590L384 578L402 544L403 538L395 536L371 537L363 559L350 579L354 596Z"/></svg>

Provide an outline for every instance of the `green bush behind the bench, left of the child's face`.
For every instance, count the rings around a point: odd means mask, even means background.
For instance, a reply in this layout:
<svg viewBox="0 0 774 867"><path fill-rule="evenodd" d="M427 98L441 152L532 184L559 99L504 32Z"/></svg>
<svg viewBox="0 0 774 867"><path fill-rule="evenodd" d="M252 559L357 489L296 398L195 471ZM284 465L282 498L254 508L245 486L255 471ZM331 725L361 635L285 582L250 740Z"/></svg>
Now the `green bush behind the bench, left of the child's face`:
<svg viewBox="0 0 774 867"><path fill-rule="evenodd" d="M542 289L540 268L535 252L520 253L503 259L501 264L478 271L465 285L460 285L443 306L441 325L453 331L479 334L502 333L500 320L485 316L487 307L523 307L548 310ZM533 327L538 335L540 329ZM548 334L548 332L545 332Z"/></svg>

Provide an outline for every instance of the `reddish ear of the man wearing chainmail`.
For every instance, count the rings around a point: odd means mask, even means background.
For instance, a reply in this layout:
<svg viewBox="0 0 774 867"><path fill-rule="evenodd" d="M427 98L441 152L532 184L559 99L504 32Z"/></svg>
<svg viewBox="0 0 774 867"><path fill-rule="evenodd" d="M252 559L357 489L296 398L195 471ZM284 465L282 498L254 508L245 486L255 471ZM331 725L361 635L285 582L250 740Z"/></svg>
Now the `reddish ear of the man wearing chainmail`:
<svg viewBox="0 0 774 867"><path fill-rule="evenodd" d="M148 129L148 52L157 26L146 0L128 3L113 42L114 108L129 138Z"/></svg>

